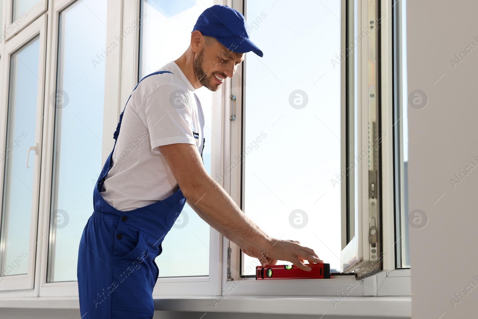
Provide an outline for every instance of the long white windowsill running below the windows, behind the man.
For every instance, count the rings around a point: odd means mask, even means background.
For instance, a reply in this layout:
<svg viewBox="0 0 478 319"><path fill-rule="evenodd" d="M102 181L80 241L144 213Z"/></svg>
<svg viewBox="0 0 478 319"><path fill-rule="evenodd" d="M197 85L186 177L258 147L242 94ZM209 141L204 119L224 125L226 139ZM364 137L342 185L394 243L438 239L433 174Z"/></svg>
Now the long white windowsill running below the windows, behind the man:
<svg viewBox="0 0 478 319"><path fill-rule="evenodd" d="M333 300L336 300L335 304ZM78 297L0 298L0 308L78 309ZM217 296L155 298L155 310L411 317L412 297Z"/></svg>

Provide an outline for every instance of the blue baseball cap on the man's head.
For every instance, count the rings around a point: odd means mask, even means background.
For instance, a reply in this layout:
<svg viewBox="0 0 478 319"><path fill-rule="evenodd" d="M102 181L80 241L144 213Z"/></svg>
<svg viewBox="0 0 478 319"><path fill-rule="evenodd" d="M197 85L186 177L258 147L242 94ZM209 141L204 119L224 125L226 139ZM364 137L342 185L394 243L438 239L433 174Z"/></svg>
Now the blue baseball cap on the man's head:
<svg viewBox="0 0 478 319"><path fill-rule="evenodd" d="M263 56L262 51L249 40L247 24L244 16L237 10L220 4L207 8L197 18L194 31L199 30L203 35L212 36L220 44L236 53L254 52Z"/></svg>

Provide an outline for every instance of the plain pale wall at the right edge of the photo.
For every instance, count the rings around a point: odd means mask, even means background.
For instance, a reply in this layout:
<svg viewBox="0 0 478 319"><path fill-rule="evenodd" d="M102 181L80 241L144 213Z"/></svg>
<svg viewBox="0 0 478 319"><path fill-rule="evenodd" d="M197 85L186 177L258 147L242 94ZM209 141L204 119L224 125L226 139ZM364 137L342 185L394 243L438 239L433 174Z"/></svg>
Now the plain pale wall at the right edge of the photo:
<svg viewBox="0 0 478 319"><path fill-rule="evenodd" d="M455 294L478 285L478 168L455 187L450 179L478 165L478 48L455 68L450 59L478 45L478 2L407 7L408 92L429 99L424 109L408 107L409 211L428 216L424 228L410 229L412 318L477 318L478 286L462 301ZM451 298L460 302L454 307Z"/></svg>

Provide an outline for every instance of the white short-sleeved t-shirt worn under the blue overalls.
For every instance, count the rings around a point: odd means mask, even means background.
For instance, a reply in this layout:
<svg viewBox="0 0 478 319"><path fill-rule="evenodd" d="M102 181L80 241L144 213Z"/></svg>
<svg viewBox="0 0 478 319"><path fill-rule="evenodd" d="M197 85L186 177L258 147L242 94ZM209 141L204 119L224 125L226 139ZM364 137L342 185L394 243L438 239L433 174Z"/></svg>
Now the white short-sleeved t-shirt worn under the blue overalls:
<svg viewBox="0 0 478 319"><path fill-rule="evenodd" d="M179 186L160 145L189 143L202 153L204 114L196 90L174 61L146 77L132 92L121 121L101 196L128 211L163 200ZM194 132L198 134L195 138Z"/></svg>

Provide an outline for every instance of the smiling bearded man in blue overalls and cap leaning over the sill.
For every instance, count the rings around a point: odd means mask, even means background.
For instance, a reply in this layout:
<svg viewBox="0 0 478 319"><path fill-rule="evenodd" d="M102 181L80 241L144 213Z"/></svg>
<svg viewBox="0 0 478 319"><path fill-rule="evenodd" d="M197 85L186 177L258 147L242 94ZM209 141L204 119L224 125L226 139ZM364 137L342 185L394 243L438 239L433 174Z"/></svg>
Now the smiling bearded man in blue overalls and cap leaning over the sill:
<svg viewBox="0 0 478 319"><path fill-rule="evenodd" d="M186 201L262 265L287 260L310 270L304 260L323 262L299 242L268 236L203 166L204 116L194 91L203 86L217 91L246 52L262 56L246 28L236 10L221 5L206 9L185 53L144 77L131 93L80 242L83 319L152 318L159 274L154 258Z"/></svg>

